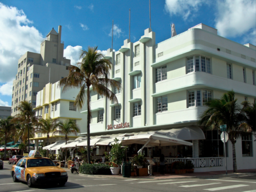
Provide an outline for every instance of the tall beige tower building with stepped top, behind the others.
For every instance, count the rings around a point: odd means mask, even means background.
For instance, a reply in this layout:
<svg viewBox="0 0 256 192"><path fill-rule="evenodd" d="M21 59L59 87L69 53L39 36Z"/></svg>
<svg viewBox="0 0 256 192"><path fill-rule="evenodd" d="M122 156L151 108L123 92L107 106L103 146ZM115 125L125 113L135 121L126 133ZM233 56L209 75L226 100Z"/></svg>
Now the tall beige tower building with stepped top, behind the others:
<svg viewBox="0 0 256 192"><path fill-rule="evenodd" d="M40 53L26 52L19 58L12 87L12 116L19 113L19 102L27 100L36 107L37 92L48 82L55 83L68 75L70 60L63 57L63 50L61 26L58 26L58 33L52 28L42 41Z"/></svg>

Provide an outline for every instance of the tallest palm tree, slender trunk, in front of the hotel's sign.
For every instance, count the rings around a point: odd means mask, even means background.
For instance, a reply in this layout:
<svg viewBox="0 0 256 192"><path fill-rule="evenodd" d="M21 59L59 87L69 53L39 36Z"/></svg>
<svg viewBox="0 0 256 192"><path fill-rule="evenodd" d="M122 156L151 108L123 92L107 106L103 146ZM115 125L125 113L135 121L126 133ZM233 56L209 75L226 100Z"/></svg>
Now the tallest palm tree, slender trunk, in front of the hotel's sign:
<svg viewBox="0 0 256 192"><path fill-rule="evenodd" d="M82 61L78 62L77 66L70 66L70 72L67 77L62 78L60 86L63 86L63 91L75 87L80 88L75 100L75 106L78 110L87 104L87 158L90 163L90 123L92 119L90 87L99 95L118 103L115 93L109 87L116 87L117 90L121 90L121 84L109 78L111 62L106 60L100 51L97 51L97 47L88 47L87 51L82 50L80 58Z"/></svg>

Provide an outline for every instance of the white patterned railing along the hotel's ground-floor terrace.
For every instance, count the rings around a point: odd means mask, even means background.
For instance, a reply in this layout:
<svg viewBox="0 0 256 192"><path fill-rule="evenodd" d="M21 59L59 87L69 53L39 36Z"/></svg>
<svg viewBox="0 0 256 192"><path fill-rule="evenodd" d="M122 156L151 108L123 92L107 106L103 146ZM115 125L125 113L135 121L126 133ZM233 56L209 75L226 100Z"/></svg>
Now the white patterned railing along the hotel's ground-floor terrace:
<svg viewBox="0 0 256 192"><path fill-rule="evenodd" d="M129 160L132 160L133 157L129 157ZM146 159L150 159L147 157ZM160 157L154 157L156 162L159 162ZM201 158L165 158L165 163L171 164L175 161L192 161L195 168L208 168L213 166L223 166L224 157L201 157Z"/></svg>

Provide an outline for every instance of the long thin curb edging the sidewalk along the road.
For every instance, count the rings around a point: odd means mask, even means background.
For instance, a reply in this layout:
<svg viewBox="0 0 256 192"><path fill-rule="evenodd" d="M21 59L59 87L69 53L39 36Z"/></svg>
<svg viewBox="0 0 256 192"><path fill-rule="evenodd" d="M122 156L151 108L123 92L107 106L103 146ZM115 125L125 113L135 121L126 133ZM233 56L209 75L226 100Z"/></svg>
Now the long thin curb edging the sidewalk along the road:
<svg viewBox="0 0 256 192"><path fill-rule="evenodd" d="M112 175L87 175L79 174L80 176L85 176L88 178L110 178L110 179L129 179L124 177L116 177ZM240 176L254 176L256 173L239 173L239 174L221 174L221 175L205 175L205 176L183 176L183 177L166 177L166 178L157 178L157 177L130 177L130 179L155 179L155 180L165 180L165 179L216 179L216 178L239 178Z"/></svg>

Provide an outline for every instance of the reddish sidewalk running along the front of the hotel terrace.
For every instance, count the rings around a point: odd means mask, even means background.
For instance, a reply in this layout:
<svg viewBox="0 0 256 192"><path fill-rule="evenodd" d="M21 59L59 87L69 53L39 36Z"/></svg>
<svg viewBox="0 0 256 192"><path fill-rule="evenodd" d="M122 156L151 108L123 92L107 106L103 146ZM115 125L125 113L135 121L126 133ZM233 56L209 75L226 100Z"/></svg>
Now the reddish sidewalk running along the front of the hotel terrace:
<svg viewBox="0 0 256 192"><path fill-rule="evenodd" d="M88 176L88 177L101 177L101 178L112 178L112 179L127 179L124 178L122 175L86 175L86 174L79 174L81 176ZM246 169L246 170L238 170L238 173L233 173L233 171L228 171L226 175L225 171L211 171L211 172L198 172L198 173L191 173L191 174L165 174L160 175L159 173L154 173L153 176L131 176L132 179L188 179L188 178L203 178L203 179L216 179L216 178L236 178L239 176L250 176L256 175L256 169Z"/></svg>

